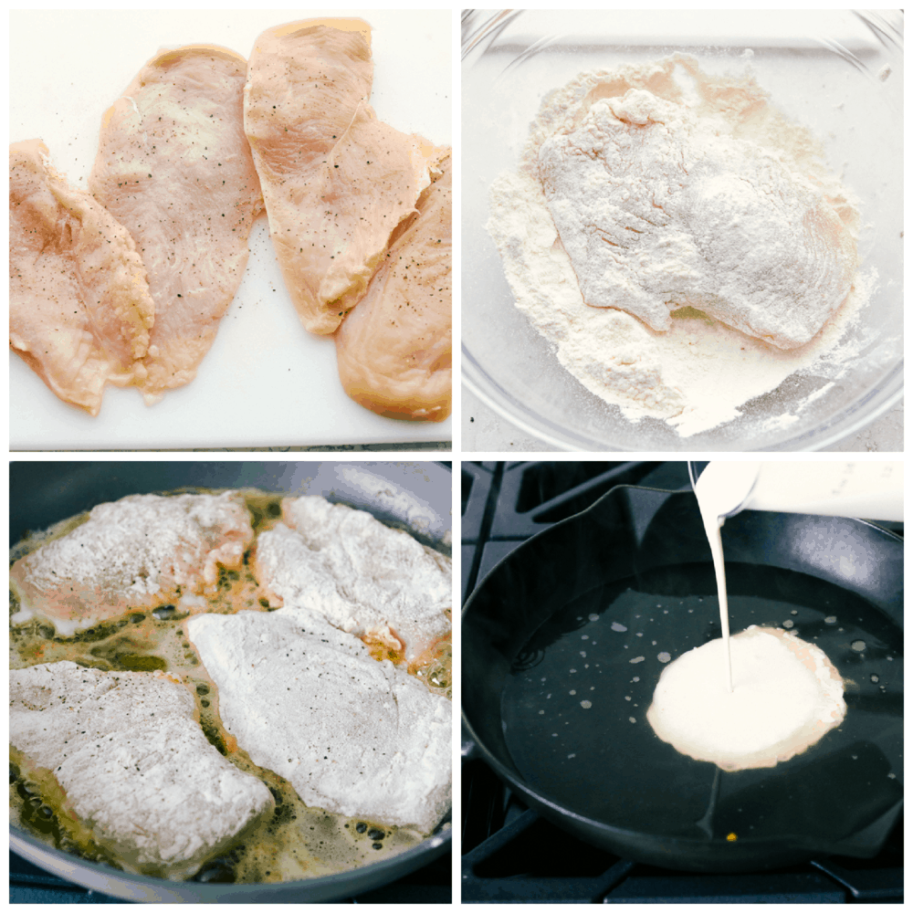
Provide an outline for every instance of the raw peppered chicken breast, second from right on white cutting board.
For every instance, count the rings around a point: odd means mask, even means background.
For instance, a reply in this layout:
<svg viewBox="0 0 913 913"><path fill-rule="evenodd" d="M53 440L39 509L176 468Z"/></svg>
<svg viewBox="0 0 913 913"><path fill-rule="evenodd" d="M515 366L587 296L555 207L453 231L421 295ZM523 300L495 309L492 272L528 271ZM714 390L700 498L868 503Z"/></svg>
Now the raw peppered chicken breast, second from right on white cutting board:
<svg viewBox="0 0 913 913"><path fill-rule="evenodd" d="M331 333L362 298L439 152L377 120L370 26L314 19L257 38L244 90L269 232L301 323Z"/></svg>

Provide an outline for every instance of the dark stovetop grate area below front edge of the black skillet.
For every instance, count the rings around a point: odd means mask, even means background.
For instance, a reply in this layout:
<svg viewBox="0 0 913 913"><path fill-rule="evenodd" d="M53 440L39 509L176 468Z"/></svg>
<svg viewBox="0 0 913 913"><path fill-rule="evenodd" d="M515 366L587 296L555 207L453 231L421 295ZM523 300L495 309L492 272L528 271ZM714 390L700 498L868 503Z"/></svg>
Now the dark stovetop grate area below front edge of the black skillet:
<svg viewBox="0 0 913 913"><path fill-rule="evenodd" d="M745 875L619 858L520 803L481 761L463 765L464 903L902 903L903 820L875 860L830 857Z"/></svg>

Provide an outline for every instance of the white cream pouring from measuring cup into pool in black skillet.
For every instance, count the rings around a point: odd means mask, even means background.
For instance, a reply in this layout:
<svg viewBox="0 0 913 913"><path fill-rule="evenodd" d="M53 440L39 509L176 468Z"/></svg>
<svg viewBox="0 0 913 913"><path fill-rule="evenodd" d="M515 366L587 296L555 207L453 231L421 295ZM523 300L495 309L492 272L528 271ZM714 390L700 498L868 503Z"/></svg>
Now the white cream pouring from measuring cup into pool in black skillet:
<svg viewBox="0 0 913 913"><path fill-rule="evenodd" d="M708 465L695 492L714 562L722 637L664 669L646 714L661 740L698 761L740 771L788 761L840 725L843 680L823 650L780 628L751 625L729 635L720 528L741 509L902 519L902 476L900 463Z"/></svg>

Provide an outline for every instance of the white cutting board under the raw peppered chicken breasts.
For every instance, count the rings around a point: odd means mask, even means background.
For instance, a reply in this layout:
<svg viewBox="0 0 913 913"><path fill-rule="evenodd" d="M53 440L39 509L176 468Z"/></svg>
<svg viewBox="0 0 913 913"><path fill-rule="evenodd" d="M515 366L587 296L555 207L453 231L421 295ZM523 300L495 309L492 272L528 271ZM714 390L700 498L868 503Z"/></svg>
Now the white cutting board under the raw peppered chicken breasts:
<svg viewBox="0 0 913 913"><path fill-rule="evenodd" d="M70 184L86 187L101 114L160 47L207 43L247 57L260 32L299 18L361 16L373 26L377 116L451 142L449 10L12 12L10 142L40 138ZM106 388L93 418L61 403L10 353L11 450L321 446L446 441L451 419L400 422L342 392L331 339L305 331L269 240L250 236L247 272L196 379L153 406Z"/></svg>

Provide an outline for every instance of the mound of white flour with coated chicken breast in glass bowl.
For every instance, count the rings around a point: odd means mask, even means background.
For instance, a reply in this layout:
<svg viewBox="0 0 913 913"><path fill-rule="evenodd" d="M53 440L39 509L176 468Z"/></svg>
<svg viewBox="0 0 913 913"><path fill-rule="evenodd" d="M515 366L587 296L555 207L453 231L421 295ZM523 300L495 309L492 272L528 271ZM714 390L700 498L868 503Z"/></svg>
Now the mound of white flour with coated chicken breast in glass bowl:
<svg viewBox="0 0 913 913"><path fill-rule="evenodd" d="M584 73L490 206L518 308L629 420L698 434L797 372L809 404L871 341L844 338L875 284L855 272L855 206L748 77L682 55ZM797 419L775 400L762 421Z"/></svg>

